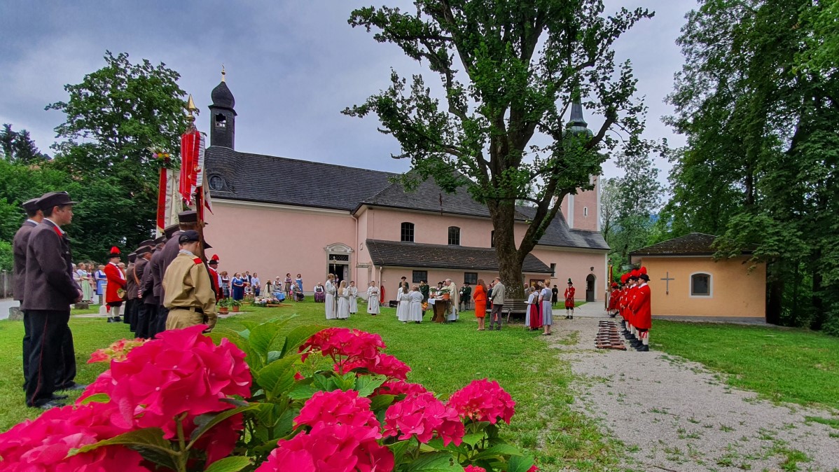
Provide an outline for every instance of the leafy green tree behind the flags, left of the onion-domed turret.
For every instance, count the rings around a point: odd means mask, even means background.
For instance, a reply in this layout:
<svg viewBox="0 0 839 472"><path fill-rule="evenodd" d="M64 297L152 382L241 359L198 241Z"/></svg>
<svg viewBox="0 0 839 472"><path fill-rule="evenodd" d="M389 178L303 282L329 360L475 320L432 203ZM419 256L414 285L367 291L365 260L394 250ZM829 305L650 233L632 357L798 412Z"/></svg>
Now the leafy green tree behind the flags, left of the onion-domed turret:
<svg viewBox="0 0 839 472"><path fill-rule="evenodd" d="M80 255L101 258L112 245L133 247L154 228L161 163L148 148L175 153L186 129L180 75L149 60L107 52L106 65L65 86L67 101L47 106L66 115L55 128L55 168L81 186L74 231ZM74 195L75 196L75 195Z"/></svg>

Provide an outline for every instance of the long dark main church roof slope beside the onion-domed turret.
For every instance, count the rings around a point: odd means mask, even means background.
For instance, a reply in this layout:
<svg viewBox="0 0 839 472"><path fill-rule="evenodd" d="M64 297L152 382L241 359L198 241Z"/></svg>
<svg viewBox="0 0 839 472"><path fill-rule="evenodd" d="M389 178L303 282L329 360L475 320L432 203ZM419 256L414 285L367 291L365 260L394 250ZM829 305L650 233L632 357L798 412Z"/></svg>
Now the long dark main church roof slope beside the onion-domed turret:
<svg viewBox="0 0 839 472"><path fill-rule="evenodd" d="M352 211L358 202L389 185L395 174L342 165L239 153L231 148L206 149L207 179L219 176L214 198ZM212 181L211 181L212 182Z"/></svg>

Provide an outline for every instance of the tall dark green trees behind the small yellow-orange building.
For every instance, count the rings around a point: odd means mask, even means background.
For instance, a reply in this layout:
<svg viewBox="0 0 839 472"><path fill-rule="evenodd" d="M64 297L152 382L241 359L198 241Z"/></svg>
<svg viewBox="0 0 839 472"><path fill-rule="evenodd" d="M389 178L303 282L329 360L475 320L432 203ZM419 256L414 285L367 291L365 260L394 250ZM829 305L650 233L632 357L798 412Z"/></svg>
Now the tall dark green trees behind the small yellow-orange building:
<svg viewBox="0 0 839 472"><path fill-rule="evenodd" d="M839 334L839 77L801 62L832 40L813 42L827 8L706 0L688 14L669 120L688 144L664 215L674 236L726 236L718 257L756 246L770 321Z"/></svg>

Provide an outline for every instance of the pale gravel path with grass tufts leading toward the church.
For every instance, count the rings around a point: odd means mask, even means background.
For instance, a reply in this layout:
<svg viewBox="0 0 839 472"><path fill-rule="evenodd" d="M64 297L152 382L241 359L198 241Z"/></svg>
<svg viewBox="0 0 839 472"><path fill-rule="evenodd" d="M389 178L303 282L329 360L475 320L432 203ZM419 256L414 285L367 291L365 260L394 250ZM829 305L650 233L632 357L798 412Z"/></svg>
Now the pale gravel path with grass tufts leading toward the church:
<svg viewBox="0 0 839 472"><path fill-rule="evenodd" d="M839 416L758 400L661 352L597 350L591 312L560 320L551 342L580 376L574 407L626 445L626 469L839 470L839 429L806 419Z"/></svg>

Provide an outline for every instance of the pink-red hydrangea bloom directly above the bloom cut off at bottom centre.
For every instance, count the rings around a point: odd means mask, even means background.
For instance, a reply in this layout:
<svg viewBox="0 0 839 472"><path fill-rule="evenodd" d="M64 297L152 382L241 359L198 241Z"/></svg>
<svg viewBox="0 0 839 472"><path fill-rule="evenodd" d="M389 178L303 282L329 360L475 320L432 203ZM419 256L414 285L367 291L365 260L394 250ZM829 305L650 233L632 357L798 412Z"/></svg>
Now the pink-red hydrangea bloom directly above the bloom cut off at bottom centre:
<svg viewBox="0 0 839 472"><path fill-rule="evenodd" d="M310 426L311 433L336 424L373 428L377 433L379 428L376 415L370 410L370 399L358 397L355 390L317 392L300 409L300 415L294 418L295 426Z"/></svg>

